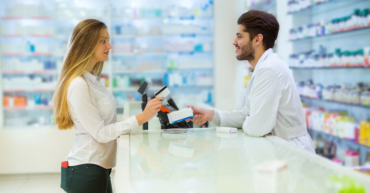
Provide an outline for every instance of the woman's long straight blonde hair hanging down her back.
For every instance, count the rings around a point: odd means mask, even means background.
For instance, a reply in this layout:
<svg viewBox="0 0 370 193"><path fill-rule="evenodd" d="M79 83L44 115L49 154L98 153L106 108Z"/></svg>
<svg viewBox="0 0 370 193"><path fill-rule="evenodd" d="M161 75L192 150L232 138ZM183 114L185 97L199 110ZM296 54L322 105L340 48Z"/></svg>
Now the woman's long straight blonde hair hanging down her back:
<svg viewBox="0 0 370 193"><path fill-rule="evenodd" d="M72 31L53 95L54 120L55 125L60 130L73 127L73 121L68 111L68 86L78 76L85 79L84 71L88 69L88 64L94 57L94 52L100 43L101 34L105 29L107 29L107 25L101 21L87 19L78 23ZM104 62L98 62L94 66L93 70L98 77L103 64Z"/></svg>

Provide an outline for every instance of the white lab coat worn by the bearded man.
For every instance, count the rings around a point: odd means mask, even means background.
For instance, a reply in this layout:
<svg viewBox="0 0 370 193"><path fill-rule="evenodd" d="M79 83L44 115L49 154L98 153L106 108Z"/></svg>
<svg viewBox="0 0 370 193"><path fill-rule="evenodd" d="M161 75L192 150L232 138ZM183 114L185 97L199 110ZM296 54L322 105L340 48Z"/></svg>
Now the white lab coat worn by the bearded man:
<svg viewBox="0 0 370 193"><path fill-rule="evenodd" d="M246 95L242 110L217 111L221 127L242 127L253 137L272 133L315 152L292 72L271 48L258 60Z"/></svg>

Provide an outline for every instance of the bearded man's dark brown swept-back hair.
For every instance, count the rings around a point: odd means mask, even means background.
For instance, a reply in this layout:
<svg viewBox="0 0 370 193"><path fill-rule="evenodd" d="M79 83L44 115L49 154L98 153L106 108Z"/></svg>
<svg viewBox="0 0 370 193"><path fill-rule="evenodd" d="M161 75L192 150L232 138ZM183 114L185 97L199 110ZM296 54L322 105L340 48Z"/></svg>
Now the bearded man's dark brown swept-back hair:
<svg viewBox="0 0 370 193"><path fill-rule="evenodd" d="M279 22L272 14L265 11L250 10L239 17L238 25L244 26L244 31L249 33L250 41L258 34L262 34L263 48L268 50L274 47L279 33Z"/></svg>

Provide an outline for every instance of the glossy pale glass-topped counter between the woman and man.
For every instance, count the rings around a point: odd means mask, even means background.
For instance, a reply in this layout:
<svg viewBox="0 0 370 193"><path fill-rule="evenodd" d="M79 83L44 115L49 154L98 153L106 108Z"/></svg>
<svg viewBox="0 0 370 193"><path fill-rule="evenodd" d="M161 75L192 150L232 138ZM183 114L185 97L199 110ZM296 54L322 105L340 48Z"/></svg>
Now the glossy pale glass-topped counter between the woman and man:
<svg viewBox="0 0 370 193"><path fill-rule="evenodd" d="M117 150L116 192L256 192L253 171L271 160L287 164L283 192L328 192L334 177L348 177L366 189L370 184L367 175L276 136L251 137L242 129L232 136L215 128L166 136L149 128L121 135Z"/></svg>

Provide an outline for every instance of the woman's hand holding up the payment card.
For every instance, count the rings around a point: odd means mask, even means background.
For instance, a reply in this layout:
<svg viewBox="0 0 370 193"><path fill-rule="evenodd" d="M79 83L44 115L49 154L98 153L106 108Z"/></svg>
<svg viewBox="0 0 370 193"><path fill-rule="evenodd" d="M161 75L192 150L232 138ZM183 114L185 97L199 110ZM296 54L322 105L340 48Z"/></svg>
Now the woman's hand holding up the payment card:
<svg viewBox="0 0 370 193"><path fill-rule="evenodd" d="M144 111L136 116L139 125L142 125L145 122L151 120L156 113L161 110L162 101L165 97L157 97L152 100L149 100L147 106L145 106Z"/></svg>

